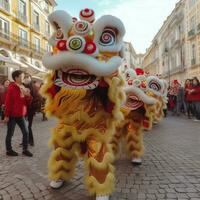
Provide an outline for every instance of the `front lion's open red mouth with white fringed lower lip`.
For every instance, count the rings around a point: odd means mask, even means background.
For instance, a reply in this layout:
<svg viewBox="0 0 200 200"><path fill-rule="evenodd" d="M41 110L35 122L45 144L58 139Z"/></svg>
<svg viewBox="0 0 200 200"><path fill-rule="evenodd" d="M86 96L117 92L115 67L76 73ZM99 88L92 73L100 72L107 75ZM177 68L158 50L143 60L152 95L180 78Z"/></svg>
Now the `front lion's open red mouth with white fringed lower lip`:
<svg viewBox="0 0 200 200"><path fill-rule="evenodd" d="M59 87L92 90L98 86L99 78L78 68L62 69L57 71L54 83Z"/></svg>

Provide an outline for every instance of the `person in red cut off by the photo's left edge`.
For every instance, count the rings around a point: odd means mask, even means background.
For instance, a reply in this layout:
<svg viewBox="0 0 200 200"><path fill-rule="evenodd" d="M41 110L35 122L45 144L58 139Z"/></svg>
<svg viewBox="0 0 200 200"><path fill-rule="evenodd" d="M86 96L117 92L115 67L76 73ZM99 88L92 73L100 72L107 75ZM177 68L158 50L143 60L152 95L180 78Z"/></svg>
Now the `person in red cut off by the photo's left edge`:
<svg viewBox="0 0 200 200"><path fill-rule="evenodd" d="M4 110L5 110L5 97L7 93L8 86L10 84L10 81L8 79L3 81L3 85L1 86L0 90L0 116L1 120L4 119Z"/></svg>

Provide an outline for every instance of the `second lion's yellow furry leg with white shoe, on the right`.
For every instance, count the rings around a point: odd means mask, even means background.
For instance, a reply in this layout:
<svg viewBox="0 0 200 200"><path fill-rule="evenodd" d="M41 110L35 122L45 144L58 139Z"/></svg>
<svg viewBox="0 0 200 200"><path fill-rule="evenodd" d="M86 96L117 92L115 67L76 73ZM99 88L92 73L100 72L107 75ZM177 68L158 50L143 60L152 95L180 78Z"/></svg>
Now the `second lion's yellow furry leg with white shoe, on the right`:
<svg viewBox="0 0 200 200"><path fill-rule="evenodd" d="M143 132L139 124L130 123L127 126L126 143L133 164L141 164L144 153Z"/></svg>

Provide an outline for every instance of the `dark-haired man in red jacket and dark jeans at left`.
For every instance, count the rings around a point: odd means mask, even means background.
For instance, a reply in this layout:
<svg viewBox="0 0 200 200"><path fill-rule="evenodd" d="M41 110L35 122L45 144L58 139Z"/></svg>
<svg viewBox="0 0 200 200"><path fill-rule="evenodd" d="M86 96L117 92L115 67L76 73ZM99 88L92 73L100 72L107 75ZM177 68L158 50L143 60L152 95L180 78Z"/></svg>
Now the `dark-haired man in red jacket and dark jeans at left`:
<svg viewBox="0 0 200 200"><path fill-rule="evenodd" d="M11 140L14 134L16 124L20 127L23 134L23 154L32 157L33 154L28 151L28 127L25 120L27 107L31 104L32 96L30 90L23 86L24 72L16 70L12 73L13 83L10 83L5 100L5 118L7 123L6 150L8 156L18 156L18 153L12 150Z"/></svg>

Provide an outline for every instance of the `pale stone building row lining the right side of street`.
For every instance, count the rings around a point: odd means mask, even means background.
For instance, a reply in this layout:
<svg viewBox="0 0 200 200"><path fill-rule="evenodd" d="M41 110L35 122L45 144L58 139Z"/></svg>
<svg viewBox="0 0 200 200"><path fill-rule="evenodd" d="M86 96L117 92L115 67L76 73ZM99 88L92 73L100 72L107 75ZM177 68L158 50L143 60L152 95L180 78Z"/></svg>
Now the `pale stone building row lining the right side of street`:
<svg viewBox="0 0 200 200"><path fill-rule="evenodd" d="M143 67L172 82L200 78L200 0L180 0L147 49Z"/></svg>

